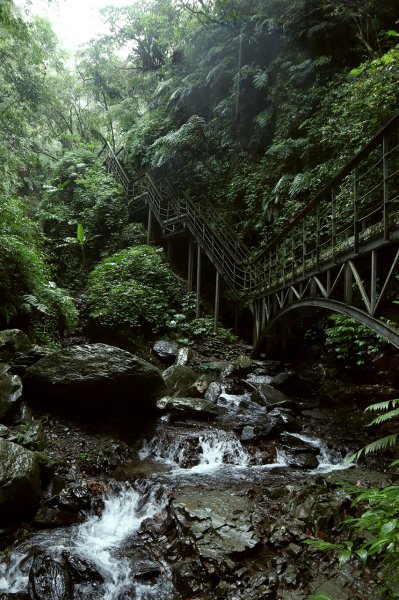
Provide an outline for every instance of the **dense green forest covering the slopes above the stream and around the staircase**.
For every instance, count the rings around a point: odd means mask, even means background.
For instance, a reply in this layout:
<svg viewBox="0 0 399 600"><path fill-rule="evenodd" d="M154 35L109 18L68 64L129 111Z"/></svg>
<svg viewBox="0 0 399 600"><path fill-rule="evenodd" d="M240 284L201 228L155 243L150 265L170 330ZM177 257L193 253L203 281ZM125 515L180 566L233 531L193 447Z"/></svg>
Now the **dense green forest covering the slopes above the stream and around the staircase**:
<svg viewBox="0 0 399 600"><path fill-rule="evenodd" d="M394 0L110 6L73 68L45 19L0 10L0 324L39 342L76 325L72 296L105 328L210 327L145 246L104 141L256 254L398 107Z"/></svg>

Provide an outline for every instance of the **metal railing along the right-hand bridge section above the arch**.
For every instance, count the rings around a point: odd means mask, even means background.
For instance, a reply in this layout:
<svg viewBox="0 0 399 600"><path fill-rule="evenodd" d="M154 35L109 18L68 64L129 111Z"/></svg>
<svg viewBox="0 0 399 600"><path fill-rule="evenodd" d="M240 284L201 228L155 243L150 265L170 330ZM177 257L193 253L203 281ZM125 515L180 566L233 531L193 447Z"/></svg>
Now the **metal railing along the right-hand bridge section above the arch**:
<svg viewBox="0 0 399 600"><path fill-rule="evenodd" d="M399 114L254 261L255 297L398 239L398 141Z"/></svg>

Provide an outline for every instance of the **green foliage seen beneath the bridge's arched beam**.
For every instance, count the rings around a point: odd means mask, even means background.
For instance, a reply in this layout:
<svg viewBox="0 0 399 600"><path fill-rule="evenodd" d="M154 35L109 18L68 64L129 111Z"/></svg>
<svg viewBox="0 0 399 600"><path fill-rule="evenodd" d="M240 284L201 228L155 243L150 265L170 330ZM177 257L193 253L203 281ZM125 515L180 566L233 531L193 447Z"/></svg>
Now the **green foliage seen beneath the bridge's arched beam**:
<svg viewBox="0 0 399 600"><path fill-rule="evenodd" d="M326 347L347 368L363 366L385 343L371 329L345 315L331 315L328 321L332 326L324 330Z"/></svg>

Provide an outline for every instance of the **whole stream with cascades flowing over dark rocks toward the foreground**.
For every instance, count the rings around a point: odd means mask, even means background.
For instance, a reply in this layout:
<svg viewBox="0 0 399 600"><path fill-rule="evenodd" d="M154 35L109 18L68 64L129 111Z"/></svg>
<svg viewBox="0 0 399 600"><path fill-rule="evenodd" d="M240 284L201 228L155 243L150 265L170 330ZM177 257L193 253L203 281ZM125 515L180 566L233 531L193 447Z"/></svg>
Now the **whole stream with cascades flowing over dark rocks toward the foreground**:
<svg viewBox="0 0 399 600"><path fill-rule="evenodd" d="M314 403L290 398L296 410L276 412L226 390L214 422L163 414L111 476L50 495L51 510L79 522L18 539L0 563L0 599L301 600L324 580L335 581L334 600L374 598L337 567L323 580L328 563L302 545L334 530L347 503L335 481L351 470L349 448L332 442L334 409L314 419ZM259 424L270 414L279 428L269 437Z"/></svg>

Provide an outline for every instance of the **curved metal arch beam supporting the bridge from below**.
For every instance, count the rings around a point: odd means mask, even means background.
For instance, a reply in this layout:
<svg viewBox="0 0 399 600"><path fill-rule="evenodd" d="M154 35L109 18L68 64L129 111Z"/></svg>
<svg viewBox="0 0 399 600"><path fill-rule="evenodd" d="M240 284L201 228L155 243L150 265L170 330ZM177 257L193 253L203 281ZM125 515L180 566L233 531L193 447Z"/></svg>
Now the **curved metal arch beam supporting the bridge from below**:
<svg viewBox="0 0 399 600"><path fill-rule="evenodd" d="M352 319L355 319L355 321L362 323L362 325L366 325L366 327L369 327L370 329L375 331L375 333L378 333L384 339L386 339L387 342L399 349L399 331L397 329L390 327L389 325L383 323L379 319L370 317L367 313L360 310L359 308L349 306L347 304L344 304L343 302L323 298L309 298L306 300L298 300L297 302L286 306L270 319L265 329L259 336L257 343L255 344L254 354L257 353L265 337L273 330L273 327L276 325L277 322L280 321L280 319L286 316L287 313L290 313L295 310L303 310L306 308L324 308L326 310L330 310L332 312L340 313L342 315L346 315L347 317L351 317Z"/></svg>

